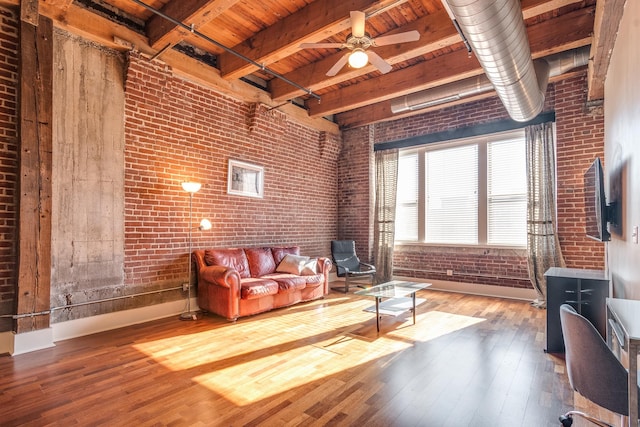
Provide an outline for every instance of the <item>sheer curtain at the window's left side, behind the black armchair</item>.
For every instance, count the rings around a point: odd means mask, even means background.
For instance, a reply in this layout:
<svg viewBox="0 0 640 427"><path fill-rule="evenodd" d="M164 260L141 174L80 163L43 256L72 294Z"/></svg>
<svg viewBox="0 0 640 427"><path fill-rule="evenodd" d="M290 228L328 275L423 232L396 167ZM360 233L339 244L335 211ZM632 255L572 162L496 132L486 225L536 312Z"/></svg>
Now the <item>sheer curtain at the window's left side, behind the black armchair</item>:
<svg viewBox="0 0 640 427"><path fill-rule="evenodd" d="M375 217L373 253L377 283L393 278L393 240L395 237L398 150L376 151Z"/></svg>

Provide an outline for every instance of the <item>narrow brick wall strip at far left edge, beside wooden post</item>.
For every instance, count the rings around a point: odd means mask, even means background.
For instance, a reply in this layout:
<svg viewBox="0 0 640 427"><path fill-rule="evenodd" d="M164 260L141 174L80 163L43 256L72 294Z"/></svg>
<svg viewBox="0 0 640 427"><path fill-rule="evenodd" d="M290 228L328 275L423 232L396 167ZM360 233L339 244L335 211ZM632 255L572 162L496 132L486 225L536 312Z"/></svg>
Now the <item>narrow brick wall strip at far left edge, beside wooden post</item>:
<svg viewBox="0 0 640 427"><path fill-rule="evenodd" d="M18 17L0 8L0 314L10 314L15 296L16 186L18 177ZM0 319L0 332L11 329Z"/></svg>

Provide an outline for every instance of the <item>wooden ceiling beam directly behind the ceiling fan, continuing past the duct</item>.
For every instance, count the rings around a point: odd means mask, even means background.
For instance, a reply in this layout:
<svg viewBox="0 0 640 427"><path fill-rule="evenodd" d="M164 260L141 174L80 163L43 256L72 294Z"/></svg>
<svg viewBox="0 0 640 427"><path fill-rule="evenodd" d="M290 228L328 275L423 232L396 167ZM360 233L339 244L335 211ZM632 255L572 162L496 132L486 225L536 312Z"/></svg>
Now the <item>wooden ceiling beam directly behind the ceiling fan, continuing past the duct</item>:
<svg viewBox="0 0 640 427"><path fill-rule="evenodd" d="M524 19L529 19L578 1L580 0L523 0L522 15ZM393 65L461 41L458 32L455 30L455 27L449 18L449 15L444 10L431 15L425 15L416 21L393 31L389 31L383 35L412 30L416 30L421 34L420 40L411 43L379 47L375 49L376 53L384 58L389 64ZM298 83L300 86L317 91L376 70L375 67L369 64L366 67L359 69L345 67L338 75L333 77L327 76L326 72L344 54L345 53L343 51L337 52L319 61L287 73L285 77L290 81ZM285 101L305 94L304 91L279 79L271 80L270 92L271 96L276 101Z"/></svg>

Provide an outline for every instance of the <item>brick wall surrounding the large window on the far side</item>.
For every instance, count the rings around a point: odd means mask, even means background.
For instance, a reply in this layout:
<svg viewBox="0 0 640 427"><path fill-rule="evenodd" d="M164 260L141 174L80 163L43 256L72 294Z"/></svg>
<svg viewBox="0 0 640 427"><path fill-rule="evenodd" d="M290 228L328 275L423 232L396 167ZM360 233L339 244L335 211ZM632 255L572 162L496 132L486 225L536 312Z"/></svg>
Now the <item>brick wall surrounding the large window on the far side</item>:
<svg viewBox="0 0 640 427"><path fill-rule="evenodd" d="M558 227L568 267L604 268L603 245L585 237L582 175L595 156L604 149L603 116L585 111L585 76L569 78L548 87L545 111L556 111L558 135ZM558 100L556 102L556 99ZM497 98L444 108L413 117L375 125L375 143L395 141L508 118ZM350 198L340 201L339 237L364 239L371 227L362 200L368 189L355 176L367 164L370 152L367 128L344 132L344 146L351 157L340 163L341 193ZM345 149L345 148L343 148ZM342 169L347 169L343 171ZM366 243L360 243L363 247ZM453 276L446 271L453 270ZM523 250L455 248L424 245L396 247L396 275L425 279L493 284L530 288L526 253Z"/></svg>

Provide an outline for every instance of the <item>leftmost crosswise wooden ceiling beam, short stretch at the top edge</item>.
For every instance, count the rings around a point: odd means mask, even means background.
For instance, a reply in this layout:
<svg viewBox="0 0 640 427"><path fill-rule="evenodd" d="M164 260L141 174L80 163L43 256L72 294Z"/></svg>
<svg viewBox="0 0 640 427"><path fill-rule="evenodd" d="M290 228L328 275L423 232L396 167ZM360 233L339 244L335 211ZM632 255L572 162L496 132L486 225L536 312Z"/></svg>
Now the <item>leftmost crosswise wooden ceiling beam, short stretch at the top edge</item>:
<svg viewBox="0 0 640 427"><path fill-rule="evenodd" d="M194 29L212 21L240 0L172 0L160 10L165 15ZM149 44L153 49L173 46L190 33L159 15L153 15L146 25Z"/></svg>

